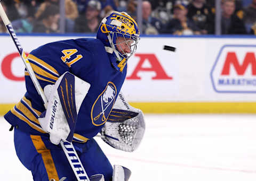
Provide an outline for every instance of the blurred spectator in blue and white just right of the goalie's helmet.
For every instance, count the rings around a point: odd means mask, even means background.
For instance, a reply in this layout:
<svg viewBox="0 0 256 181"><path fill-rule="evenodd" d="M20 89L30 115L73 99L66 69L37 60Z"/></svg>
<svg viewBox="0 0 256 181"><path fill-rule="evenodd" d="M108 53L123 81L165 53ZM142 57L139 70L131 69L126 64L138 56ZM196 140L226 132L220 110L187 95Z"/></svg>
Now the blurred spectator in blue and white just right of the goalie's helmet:
<svg viewBox="0 0 256 181"><path fill-rule="evenodd" d="M142 2L142 33L157 35L161 30L162 23L151 16L151 4L149 1Z"/></svg>

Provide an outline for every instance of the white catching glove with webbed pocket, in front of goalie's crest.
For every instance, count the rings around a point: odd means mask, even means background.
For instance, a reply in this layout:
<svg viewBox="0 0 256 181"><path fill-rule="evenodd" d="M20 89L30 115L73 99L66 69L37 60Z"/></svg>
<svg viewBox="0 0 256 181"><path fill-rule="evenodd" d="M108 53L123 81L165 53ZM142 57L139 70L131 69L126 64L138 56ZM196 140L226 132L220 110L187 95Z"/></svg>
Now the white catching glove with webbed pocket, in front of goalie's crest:
<svg viewBox="0 0 256 181"><path fill-rule="evenodd" d="M118 150L132 152L138 148L144 132L142 111L130 106L120 92L101 130L102 140Z"/></svg>

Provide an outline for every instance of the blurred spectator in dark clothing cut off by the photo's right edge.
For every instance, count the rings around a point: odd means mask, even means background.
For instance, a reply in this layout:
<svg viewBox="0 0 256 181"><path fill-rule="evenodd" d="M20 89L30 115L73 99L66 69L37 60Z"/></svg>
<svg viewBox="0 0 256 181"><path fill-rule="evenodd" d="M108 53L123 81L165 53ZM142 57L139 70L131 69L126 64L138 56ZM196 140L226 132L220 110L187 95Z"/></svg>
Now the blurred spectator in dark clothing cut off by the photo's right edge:
<svg viewBox="0 0 256 181"><path fill-rule="evenodd" d="M256 0L252 0L251 4L244 8L244 23L246 30L250 30L252 24L256 22Z"/></svg>

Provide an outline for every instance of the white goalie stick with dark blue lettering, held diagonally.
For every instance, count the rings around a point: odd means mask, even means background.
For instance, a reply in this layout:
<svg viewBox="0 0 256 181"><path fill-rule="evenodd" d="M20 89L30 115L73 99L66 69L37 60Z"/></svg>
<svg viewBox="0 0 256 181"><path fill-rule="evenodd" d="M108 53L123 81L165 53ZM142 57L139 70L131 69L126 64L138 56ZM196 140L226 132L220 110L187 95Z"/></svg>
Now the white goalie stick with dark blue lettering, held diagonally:
<svg viewBox="0 0 256 181"><path fill-rule="evenodd" d="M19 54L22 58L22 61L23 63L25 64L26 68L27 68L27 71L31 77L31 80L33 81L34 85L35 85L35 88L39 94L39 96L42 98L42 101L44 103L44 107L45 109L47 108L47 98L44 94L44 91L41 87L41 85L39 84L37 78L36 78L36 75L32 69L32 67L30 66L29 64L29 61L28 61L28 58L25 54L25 51L23 50L23 48L21 47L20 45L20 42L12 28L12 24L11 22L9 21L9 19L7 18L7 15L4 11L4 8L1 4L1 0L0 0L0 16L4 22L4 25L5 27L7 28L7 30L9 31L10 33L10 36L14 42L14 45L16 46L16 48L18 49L19 51ZM62 147L62 150L65 152L65 155L69 161L69 164L71 166L71 168L73 169L74 171L74 174L76 175L76 178L78 181L90 181L89 177L87 176L86 174L86 171L82 165L82 162L81 160L79 159L76 151L75 151L75 148L74 148L74 145L72 143L69 143L65 140L61 140L60 142L61 144L61 147Z"/></svg>

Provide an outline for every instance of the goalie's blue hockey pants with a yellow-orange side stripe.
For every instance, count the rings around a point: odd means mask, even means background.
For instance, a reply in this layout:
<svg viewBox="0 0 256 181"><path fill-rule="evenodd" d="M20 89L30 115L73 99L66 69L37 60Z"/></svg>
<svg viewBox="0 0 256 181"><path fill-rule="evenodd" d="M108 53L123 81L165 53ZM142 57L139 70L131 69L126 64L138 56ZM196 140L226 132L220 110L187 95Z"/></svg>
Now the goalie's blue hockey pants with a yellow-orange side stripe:
<svg viewBox="0 0 256 181"><path fill-rule="evenodd" d="M86 143L73 142L87 175L103 174L105 180L111 180L113 168L94 139ZM74 181L76 176L60 145L50 142L49 136L30 135L18 129L14 130L14 145L22 164L33 175L35 181Z"/></svg>

